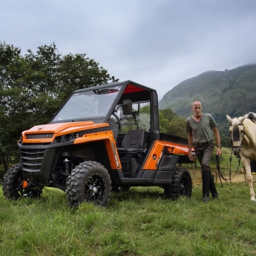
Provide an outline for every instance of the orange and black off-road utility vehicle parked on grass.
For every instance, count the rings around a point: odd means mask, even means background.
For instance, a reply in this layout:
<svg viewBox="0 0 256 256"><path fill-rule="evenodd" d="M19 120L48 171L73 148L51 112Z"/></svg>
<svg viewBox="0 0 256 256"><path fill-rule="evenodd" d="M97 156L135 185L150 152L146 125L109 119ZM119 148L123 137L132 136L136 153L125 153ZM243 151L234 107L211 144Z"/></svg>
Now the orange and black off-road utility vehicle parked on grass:
<svg viewBox="0 0 256 256"><path fill-rule="evenodd" d="M181 163L187 139L159 132L157 91L130 80L74 91L48 124L22 132L20 163L3 179L8 199L67 193L69 206L108 203L110 192L159 186L167 198L190 197Z"/></svg>

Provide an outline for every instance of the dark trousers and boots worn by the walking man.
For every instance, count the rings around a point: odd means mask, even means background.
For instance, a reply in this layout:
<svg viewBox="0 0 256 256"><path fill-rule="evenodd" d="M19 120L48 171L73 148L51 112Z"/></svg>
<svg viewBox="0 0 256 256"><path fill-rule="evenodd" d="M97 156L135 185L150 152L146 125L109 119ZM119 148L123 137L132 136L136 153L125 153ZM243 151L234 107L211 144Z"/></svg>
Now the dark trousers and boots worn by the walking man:
<svg viewBox="0 0 256 256"><path fill-rule="evenodd" d="M195 155L200 162L202 169L202 179L203 179L203 196L209 196L209 191L212 195L218 195L217 189L214 184L214 178L211 176L210 161L211 156L214 151L214 143L203 143L202 145L194 145Z"/></svg>

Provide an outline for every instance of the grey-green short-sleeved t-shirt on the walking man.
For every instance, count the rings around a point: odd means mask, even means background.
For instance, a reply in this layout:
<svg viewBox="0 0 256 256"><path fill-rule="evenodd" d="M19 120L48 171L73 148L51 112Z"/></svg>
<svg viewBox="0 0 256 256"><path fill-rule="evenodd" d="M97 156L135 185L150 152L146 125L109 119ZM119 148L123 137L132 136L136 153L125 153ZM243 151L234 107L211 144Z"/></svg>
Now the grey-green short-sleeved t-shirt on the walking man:
<svg viewBox="0 0 256 256"><path fill-rule="evenodd" d="M203 113L199 122L195 121L192 116L187 118L186 132L192 133L194 143L206 143L213 140L214 133L212 128L217 127L217 122L211 114Z"/></svg>

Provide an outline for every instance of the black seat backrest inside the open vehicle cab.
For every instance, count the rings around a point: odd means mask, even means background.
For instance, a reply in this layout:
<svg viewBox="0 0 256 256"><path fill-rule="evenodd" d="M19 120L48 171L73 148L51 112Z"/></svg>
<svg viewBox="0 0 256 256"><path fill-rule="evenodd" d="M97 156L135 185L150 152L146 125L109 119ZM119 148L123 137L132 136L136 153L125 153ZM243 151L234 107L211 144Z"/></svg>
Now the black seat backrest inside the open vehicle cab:
<svg viewBox="0 0 256 256"><path fill-rule="evenodd" d="M146 141L146 131L143 129L130 130L124 136L121 148L144 148Z"/></svg>

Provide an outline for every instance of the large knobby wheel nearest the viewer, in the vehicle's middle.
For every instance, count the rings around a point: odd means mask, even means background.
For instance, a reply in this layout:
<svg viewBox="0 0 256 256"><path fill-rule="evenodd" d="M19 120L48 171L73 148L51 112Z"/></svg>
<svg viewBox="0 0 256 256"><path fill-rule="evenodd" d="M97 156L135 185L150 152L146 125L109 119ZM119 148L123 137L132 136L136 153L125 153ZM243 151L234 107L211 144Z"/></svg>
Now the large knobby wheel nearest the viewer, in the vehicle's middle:
<svg viewBox="0 0 256 256"><path fill-rule="evenodd" d="M69 206L79 206L80 203L94 203L105 206L111 191L111 181L108 170L99 162L86 161L80 163L67 181L67 200Z"/></svg>

